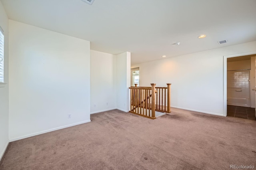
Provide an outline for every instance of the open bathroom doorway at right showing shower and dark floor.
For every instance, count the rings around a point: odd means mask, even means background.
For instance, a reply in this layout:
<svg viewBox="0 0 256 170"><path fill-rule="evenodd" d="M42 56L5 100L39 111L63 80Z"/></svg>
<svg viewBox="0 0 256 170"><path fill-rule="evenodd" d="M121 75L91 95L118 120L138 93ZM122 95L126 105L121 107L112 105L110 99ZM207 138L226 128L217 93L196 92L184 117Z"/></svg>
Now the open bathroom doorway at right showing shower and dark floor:
<svg viewBox="0 0 256 170"><path fill-rule="evenodd" d="M255 56L227 58L227 116L256 120Z"/></svg>

